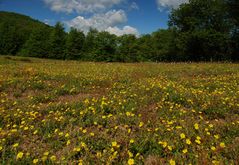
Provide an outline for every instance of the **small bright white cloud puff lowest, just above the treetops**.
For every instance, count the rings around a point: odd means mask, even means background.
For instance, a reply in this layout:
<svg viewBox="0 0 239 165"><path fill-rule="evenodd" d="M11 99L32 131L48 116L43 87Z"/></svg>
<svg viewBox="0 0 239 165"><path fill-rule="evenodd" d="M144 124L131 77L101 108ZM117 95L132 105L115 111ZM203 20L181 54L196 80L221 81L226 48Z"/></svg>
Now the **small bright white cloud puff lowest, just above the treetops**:
<svg viewBox="0 0 239 165"><path fill-rule="evenodd" d="M118 27L108 27L105 31L111 33L111 34L115 34L117 36L122 36L124 34L134 34L136 36L139 35L139 32L136 28L133 28L131 26L124 26L122 29L118 28Z"/></svg>

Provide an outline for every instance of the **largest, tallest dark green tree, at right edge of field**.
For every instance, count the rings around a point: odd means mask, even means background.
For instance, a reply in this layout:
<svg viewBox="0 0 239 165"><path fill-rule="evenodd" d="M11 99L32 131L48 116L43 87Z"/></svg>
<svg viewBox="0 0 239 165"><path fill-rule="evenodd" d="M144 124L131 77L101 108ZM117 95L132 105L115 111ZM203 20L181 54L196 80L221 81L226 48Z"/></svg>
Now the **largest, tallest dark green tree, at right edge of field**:
<svg viewBox="0 0 239 165"><path fill-rule="evenodd" d="M225 60L230 21L224 0L189 0L172 11L169 27L176 29L178 54L183 60Z"/></svg>

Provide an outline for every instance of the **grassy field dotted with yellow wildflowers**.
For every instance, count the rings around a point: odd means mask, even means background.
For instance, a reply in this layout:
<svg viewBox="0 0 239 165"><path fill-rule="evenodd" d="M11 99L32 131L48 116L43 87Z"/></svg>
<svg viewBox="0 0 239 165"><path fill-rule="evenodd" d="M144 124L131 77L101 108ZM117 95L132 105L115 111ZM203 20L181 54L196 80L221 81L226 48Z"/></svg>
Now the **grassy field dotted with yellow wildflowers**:
<svg viewBox="0 0 239 165"><path fill-rule="evenodd" d="M0 164L238 164L239 64L0 57Z"/></svg>

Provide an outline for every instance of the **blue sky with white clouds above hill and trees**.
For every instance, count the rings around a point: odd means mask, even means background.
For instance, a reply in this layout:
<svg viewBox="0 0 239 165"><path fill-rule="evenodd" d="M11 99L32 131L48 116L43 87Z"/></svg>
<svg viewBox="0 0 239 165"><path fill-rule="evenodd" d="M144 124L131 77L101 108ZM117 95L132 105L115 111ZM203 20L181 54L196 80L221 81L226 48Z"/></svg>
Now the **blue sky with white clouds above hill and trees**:
<svg viewBox="0 0 239 165"><path fill-rule="evenodd" d="M1 11L31 16L50 25L84 32L90 27L116 35L146 34L167 28L171 8L187 0L0 0Z"/></svg>

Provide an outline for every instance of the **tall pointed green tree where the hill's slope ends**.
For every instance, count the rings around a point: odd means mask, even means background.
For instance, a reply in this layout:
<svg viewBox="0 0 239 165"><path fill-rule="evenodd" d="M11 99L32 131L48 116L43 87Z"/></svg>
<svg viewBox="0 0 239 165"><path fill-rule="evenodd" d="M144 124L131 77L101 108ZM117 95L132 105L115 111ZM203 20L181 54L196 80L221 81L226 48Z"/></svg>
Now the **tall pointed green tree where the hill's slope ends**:
<svg viewBox="0 0 239 165"><path fill-rule="evenodd" d="M50 34L50 58L65 59L66 33L60 22L57 22Z"/></svg>

